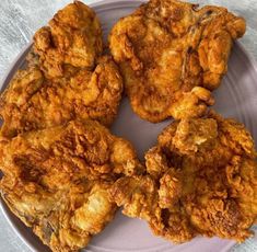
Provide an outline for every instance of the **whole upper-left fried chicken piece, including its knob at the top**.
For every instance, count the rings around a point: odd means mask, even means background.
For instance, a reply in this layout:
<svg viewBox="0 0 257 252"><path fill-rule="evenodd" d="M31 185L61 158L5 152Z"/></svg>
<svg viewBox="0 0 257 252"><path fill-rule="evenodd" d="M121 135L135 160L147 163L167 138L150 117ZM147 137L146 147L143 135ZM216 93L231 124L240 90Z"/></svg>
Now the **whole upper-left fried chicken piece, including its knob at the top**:
<svg viewBox="0 0 257 252"><path fill-rule="evenodd" d="M122 78L110 56L101 56L101 26L93 10L75 1L35 35L24 70L0 96L1 135L13 137L71 119L109 126L122 93Z"/></svg>

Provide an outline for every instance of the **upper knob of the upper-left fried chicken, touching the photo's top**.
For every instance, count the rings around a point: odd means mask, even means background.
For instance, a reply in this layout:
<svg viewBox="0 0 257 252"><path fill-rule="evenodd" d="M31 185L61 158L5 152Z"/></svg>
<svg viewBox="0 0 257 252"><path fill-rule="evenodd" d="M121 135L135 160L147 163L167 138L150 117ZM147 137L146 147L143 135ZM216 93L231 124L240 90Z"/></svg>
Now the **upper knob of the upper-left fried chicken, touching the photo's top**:
<svg viewBox="0 0 257 252"><path fill-rule="evenodd" d="M47 78L62 77L67 66L93 69L103 53L102 30L95 12L74 1L58 11L34 36L34 50Z"/></svg>

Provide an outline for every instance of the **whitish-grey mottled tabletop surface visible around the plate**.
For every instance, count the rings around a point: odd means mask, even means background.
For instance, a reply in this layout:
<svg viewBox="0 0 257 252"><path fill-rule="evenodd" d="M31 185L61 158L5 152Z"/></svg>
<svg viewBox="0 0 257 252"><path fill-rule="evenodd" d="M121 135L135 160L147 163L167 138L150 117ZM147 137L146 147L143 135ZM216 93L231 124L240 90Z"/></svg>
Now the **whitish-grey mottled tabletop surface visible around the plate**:
<svg viewBox="0 0 257 252"><path fill-rule="evenodd" d="M108 0L106 0L108 1ZM70 0L0 0L0 80L11 62L32 39L34 32L47 23L52 14ZM85 3L94 0L83 1ZM200 4L220 4L243 15L247 33L241 42L257 61L257 0L199 0ZM234 249L236 252L257 251L256 239L249 239ZM0 252L30 252L16 237L0 211Z"/></svg>

